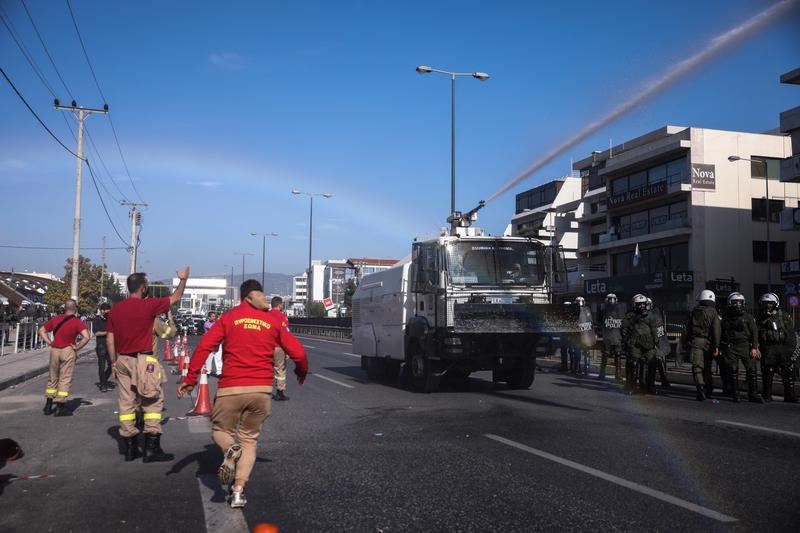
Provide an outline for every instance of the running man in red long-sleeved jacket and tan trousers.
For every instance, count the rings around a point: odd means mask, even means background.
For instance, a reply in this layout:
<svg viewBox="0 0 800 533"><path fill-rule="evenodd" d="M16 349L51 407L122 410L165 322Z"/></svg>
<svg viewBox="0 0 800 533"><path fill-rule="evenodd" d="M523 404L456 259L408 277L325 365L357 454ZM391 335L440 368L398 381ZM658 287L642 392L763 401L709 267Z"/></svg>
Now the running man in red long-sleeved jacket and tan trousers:
<svg viewBox="0 0 800 533"><path fill-rule="evenodd" d="M244 487L255 464L261 424L270 414L275 348L283 348L295 362L298 383L302 385L308 374L303 345L267 310L261 284L247 280L240 294L242 303L222 315L200 340L188 375L178 388L178 398L194 389L208 354L222 343L225 372L219 380L211 422L212 438L225 454L217 471L220 482L233 483L231 507L247 503Z"/></svg>

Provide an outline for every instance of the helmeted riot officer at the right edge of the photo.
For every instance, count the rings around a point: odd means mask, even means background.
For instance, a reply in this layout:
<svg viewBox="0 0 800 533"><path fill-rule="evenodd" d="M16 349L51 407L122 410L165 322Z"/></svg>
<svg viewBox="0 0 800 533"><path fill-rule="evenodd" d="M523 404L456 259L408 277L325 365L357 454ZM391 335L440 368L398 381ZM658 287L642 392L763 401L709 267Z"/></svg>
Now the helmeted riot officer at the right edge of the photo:
<svg viewBox="0 0 800 533"><path fill-rule="evenodd" d="M797 344L791 317L778 308L778 296L768 292L761 296L758 317L758 340L761 345L761 397L772 400L772 378L779 372L783 379L783 401L797 403L794 394L792 355Z"/></svg>

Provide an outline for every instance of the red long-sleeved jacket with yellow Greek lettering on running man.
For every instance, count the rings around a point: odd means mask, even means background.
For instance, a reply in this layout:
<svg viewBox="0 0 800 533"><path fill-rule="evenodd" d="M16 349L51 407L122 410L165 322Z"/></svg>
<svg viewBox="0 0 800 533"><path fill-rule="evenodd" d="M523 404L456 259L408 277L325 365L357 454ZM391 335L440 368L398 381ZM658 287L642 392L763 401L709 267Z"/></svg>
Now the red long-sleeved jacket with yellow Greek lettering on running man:
<svg viewBox="0 0 800 533"><path fill-rule="evenodd" d="M272 386L272 354L283 348L297 366L295 373L308 373L308 358L297 338L269 311L256 309L246 300L224 315L203 335L194 350L184 383L196 385L208 354L222 344L222 377L219 387Z"/></svg>

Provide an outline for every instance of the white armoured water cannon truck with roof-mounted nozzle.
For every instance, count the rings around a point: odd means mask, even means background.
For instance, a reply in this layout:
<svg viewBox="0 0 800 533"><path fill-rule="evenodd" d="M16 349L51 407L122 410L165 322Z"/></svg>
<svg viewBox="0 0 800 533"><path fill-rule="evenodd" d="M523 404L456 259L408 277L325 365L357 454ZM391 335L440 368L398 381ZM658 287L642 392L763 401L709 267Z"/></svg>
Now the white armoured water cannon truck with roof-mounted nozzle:
<svg viewBox="0 0 800 533"><path fill-rule="evenodd" d="M526 237L472 227L480 204L448 218L450 231L416 241L395 266L364 276L353 294L353 353L370 379L399 376L421 392L440 379L491 370L527 389L536 356L578 331L576 306L558 305L563 252Z"/></svg>

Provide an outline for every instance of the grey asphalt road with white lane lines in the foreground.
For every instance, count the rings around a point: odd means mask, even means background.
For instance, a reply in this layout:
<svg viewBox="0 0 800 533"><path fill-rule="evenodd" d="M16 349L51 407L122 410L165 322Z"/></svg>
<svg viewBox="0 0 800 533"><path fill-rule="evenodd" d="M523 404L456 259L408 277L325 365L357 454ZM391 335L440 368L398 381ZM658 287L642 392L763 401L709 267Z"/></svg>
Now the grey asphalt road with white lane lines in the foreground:
<svg viewBox="0 0 800 533"><path fill-rule="evenodd" d="M0 393L0 437L26 454L0 470L0 530L800 530L796 405L628 397L555 372L528 391L483 373L425 395L370 383L347 344L304 343L313 374L299 387L290 372L290 401L273 403L243 513L224 503L208 420L178 418L191 405L176 377L173 463L123 461L93 359L77 365L71 417L41 414L44 378Z"/></svg>

